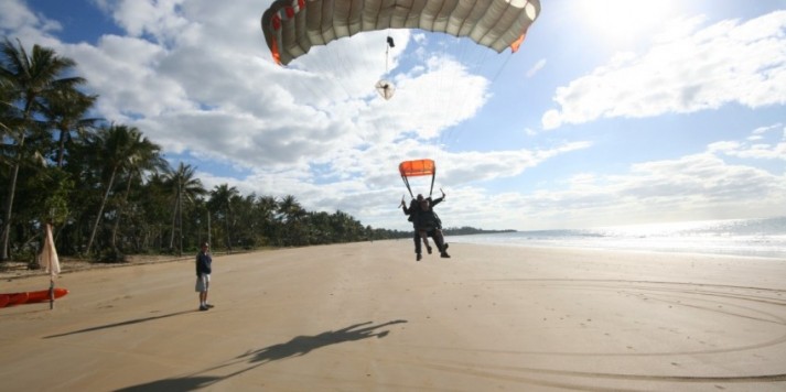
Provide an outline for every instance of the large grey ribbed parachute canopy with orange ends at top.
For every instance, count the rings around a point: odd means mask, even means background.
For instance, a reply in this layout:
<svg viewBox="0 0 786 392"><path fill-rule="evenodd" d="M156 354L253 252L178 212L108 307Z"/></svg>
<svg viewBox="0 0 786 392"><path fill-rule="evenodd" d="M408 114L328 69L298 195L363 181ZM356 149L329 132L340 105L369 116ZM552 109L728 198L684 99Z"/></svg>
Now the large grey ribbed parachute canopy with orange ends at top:
<svg viewBox="0 0 786 392"><path fill-rule="evenodd" d="M466 36L513 52L540 13L540 0L276 0L262 14L265 41L287 65L314 45L386 29Z"/></svg>

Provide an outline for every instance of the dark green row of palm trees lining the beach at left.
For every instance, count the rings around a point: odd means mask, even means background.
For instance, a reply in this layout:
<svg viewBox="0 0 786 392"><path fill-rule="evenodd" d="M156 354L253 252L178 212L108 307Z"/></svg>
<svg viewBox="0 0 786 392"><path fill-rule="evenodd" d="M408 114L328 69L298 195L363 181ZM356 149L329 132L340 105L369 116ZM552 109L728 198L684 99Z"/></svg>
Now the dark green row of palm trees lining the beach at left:
<svg viewBox="0 0 786 392"><path fill-rule="evenodd" d="M62 255L299 247L411 232L374 229L352 216L305 210L297 198L206 189L194 166L172 166L136 127L90 118L98 96L76 63L8 37L0 57L0 262L32 261L44 225Z"/></svg>

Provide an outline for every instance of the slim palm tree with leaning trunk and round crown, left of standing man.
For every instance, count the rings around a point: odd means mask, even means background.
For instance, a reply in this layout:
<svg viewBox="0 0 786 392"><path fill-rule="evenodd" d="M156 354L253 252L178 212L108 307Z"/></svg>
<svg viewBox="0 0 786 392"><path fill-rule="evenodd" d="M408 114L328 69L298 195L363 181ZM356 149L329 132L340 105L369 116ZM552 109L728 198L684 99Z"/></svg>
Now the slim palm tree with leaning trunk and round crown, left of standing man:
<svg viewBox="0 0 786 392"><path fill-rule="evenodd" d="M96 215L96 221L93 224L90 239L87 241L87 248L85 249L86 254L89 254L93 248L98 225L104 216L104 208L115 187L115 179L120 171L127 168L130 162L137 159L136 153L140 150L138 144L141 141L140 131L133 127L129 128L127 126L111 124L108 128L98 130L98 134L94 141L94 148L97 152L96 159L104 164L104 173L108 178L106 179L106 189L104 190L104 197L101 197L101 204Z"/></svg>

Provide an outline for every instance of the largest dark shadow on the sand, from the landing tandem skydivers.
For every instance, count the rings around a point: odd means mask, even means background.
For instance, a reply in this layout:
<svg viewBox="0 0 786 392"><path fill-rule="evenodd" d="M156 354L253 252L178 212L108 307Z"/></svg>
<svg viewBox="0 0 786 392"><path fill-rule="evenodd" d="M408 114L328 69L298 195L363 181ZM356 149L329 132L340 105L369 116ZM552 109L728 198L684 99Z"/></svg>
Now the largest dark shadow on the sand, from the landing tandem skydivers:
<svg viewBox="0 0 786 392"><path fill-rule="evenodd" d="M378 325L369 325L369 324L373 324L373 322L366 322L366 323L351 325L346 328L342 328L342 329L337 329L337 330L330 330L330 331L322 333L322 334L314 335L314 336L297 336L297 337L292 338L290 341L287 341L283 344L272 345L272 346L261 348L259 350L248 351L248 352L237 357L235 360L229 361L228 363L225 363L225 364L222 364L222 366L218 366L215 368L205 369L203 371L194 373L194 375L182 377L182 378L176 378L176 379L158 380L158 381L148 382L144 384L123 388L123 389L120 389L117 391L123 391L123 392L130 392L130 391L140 391L140 392L141 391L191 391L191 390L195 390L195 389L200 389L200 388L205 388L205 386L208 386L216 382L219 382L219 381L229 379L232 377L245 373L249 370L256 369L257 367L260 367L265 363L284 359L284 358L289 358L289 357L301 357L301 356L304 356L304 355L311 352L312 350L315 350L321 347L336 345L336 344L341 344L341 342L345 342L345 341L368 339L368 338L374 338L374 337L376 337L377 339L381 339L381 338L386 337L390 331L389 330L377 331L377 329L379 329L381 327L389 326L389 325L401 324L401 323L407 323L407 320L397 319L397 320L390 320L390 322L378 324ZM366 325L368 325L368 326L363 327ZM363 328L360 328L360 327L363 327ZM245 362L245 361L248 361L248 363L251 363L251 366L249 366L245 369L235 371L233 373L226 374L226 375L220 375L220 377L195 375L195 374L217 370L220 368L234 366L234 364L237 364L238 362Z"/></svg>

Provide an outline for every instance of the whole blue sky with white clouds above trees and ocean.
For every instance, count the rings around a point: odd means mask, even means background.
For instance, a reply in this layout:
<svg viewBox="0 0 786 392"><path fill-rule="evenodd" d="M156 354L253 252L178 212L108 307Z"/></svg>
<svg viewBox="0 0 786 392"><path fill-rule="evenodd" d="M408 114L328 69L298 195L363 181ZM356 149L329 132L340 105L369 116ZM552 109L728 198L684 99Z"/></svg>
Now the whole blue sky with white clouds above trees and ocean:
<svg viewBox="0 0 786 392"><path fill-rule="evenodd" d="M74 59L93 116L137 127L207 189L409 230L398 164L432 159L449 228L786 215L784 0L541 0L513 54L392 30L286 67L260 29L270 3L3 0L0 33Z"/></svg>

